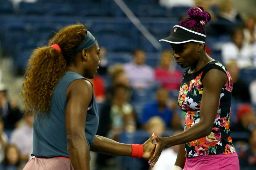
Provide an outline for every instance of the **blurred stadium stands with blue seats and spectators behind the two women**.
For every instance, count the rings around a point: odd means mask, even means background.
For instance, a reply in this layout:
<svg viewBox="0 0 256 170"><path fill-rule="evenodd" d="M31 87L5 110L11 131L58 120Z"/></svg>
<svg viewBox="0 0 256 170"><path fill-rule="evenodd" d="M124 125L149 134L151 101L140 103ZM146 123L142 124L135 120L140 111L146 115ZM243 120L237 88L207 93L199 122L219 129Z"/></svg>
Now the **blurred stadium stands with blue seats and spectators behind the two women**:
<svg viewBox="0 0 256 170"><path fill-rule="evenodd" d="M97 134L142 144L152 133L181 133L185 114L177 95L184 70L170 45L158 41L194 6L211 14L206 52L233 79L231 137L241 169L256 169L256 0L0 0L0 169L22 169L31 159L33 117L22 117L19 100L27 60L55 32L76 23L101 48L91 80ZM159 162L172 169L176 156L177 147L167 148ZM92 170L150 169L145 160L94 152L90 163Z"/></svg>

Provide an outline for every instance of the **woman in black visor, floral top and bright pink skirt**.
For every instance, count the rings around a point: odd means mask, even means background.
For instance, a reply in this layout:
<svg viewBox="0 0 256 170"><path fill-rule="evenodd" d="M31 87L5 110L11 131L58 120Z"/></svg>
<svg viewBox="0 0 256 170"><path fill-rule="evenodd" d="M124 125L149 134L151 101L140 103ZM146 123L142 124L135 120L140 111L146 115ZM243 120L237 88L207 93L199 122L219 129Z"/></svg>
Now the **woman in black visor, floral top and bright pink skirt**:
<svg viewBox="0 0 256 170"><path fill-rule="evenodd" d="M183 133L161 138L149 164L154 166L161 151L179 145L174 170L238 170L239 161L230 137L232 79L226 68L205 51L203 26L211 17L202 7L190 8L169 37L177 65L187 68L178 95L186 112Z"/></svg>

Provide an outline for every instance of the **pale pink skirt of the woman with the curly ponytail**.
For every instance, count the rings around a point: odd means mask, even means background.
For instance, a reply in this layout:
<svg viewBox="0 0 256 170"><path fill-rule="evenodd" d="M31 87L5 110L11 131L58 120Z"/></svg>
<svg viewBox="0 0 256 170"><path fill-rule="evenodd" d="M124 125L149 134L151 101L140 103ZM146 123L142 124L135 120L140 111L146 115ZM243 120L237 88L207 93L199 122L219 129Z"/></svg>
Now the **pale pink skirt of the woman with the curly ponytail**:
<svg viewBox="0 0 256 170"><path fill-rule="evenodd" d="M69 158L32 158L23 170L74 170Z"/></svg>

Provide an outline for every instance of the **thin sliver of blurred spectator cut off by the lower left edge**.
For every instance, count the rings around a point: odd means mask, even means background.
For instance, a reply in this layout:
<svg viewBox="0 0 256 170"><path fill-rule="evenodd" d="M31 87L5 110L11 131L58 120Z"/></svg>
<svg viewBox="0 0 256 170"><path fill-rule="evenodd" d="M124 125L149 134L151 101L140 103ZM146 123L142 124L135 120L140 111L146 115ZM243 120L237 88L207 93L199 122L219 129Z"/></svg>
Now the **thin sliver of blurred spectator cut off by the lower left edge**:
<svg viewBox="0 0 256 170"><path fill-rule="evenodd" d="M0 163L5 159L5 148L8 143L8 136L3 131L4 126L5 124L3 123L3 119L0 117Z"/></svg>

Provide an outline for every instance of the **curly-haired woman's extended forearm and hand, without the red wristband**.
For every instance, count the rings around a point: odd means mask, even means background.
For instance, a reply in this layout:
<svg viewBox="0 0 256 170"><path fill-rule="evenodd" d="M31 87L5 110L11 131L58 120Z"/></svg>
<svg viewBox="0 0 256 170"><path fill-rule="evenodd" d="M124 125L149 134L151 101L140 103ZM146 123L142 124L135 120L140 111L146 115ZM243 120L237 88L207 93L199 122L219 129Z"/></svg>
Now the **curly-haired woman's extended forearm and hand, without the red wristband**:
<svg viewBox="0 0 256 170"><path fill-rule="evenodd" d="M154 153L155 144L152 143L154 138L155 135L152 135L143 144L144 159L149 159ZM91 145L91 151L115 156L131 156L132 148L130 144L119 143L112 139L96 135L93 145Z"/></svg>

